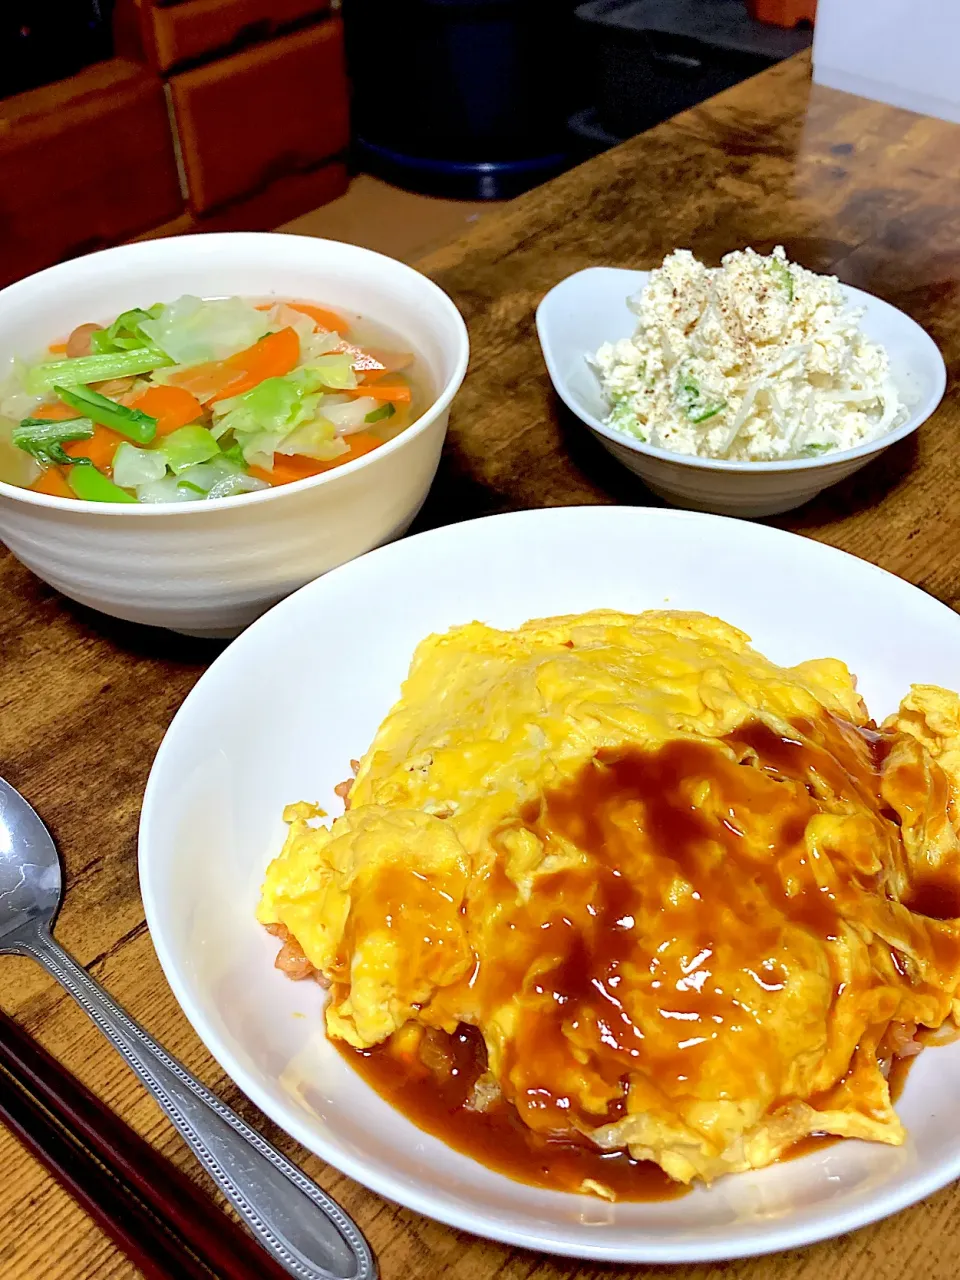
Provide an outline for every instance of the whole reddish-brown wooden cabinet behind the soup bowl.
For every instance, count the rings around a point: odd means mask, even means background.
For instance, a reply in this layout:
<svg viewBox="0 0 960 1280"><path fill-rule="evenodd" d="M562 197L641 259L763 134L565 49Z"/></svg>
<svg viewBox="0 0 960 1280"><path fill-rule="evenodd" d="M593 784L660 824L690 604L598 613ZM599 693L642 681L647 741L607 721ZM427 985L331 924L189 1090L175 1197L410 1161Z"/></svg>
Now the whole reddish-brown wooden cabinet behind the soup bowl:
<svg viewBox="0 0 960 1280"><path fill-rule="evenodd" d="M125 239L266 230L342 195L329 9L116 0L119 56L0 101L0 285Z"/></svg>

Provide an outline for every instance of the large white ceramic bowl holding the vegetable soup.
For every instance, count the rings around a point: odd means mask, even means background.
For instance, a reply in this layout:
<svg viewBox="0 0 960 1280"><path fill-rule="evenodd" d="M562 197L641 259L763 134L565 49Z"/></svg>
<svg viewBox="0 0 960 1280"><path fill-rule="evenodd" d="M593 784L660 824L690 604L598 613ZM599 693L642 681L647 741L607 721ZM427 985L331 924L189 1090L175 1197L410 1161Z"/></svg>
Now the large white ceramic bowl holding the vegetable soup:
<svg viewBox="0 0 960 1280"><path fill-rule="evenodd" d="M0 483L0 539L82 604L189 635L230 636L310 579L403 534L440 457L467 367L463 320L431 280L370 250L234 233L125 244L0 292L0 376L84 320L183 293L326 302L378 320L424 361L436 399L408 430L325 475L212 502L133 507Z"/></svg>

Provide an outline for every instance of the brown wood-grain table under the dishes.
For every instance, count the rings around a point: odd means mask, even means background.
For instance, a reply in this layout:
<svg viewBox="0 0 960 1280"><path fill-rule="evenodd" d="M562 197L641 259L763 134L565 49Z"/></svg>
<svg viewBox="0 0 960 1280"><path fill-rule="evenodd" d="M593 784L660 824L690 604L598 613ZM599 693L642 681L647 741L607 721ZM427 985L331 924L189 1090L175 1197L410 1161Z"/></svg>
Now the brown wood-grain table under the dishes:
<svg viewBox="0 0 960 1280"><path fill-rule="evenodd" d="M593 264L650 268L686 246L708 261L783 243L923 324L951 374L960 353L960 128L809 87L805 58L566 174L422 262L462 308L474 358L420 526L518 507L653 499L559 411L534 308ZM776 524L872 559L960 604L956 384L918 439ZM549 1280L655 1268L577 1267L396 1208L278 1133L214 1064L177 1007L137 890L137 814L164 730L216 649L113 622L0 561L0 772L38 806L67 861L58 936L207 1084L292 1152L358 1220L387 1280ZM852 603L852 602L851 602ZM878 637L878 643L882 637ZM0 963L0 1004L178 1165L187 1149L86 1016L26 960ZM0 1275L136 1275L0 1133ZM952 1280L960 1188L832 1243L677 1268L682 1280Z"/></svg>

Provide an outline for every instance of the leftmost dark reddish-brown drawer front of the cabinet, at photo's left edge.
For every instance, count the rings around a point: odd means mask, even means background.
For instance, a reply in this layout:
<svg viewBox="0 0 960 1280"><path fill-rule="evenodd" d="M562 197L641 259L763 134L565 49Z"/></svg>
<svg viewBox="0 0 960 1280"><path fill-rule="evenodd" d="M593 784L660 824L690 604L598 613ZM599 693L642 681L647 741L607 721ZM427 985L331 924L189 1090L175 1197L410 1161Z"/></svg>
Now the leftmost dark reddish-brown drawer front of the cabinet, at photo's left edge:
<svg viewBox="0 0 960 1280"><path fill-rule="evenodd" d="M163 84L122 59L0 102L0 284L183 209Z"/></svg>

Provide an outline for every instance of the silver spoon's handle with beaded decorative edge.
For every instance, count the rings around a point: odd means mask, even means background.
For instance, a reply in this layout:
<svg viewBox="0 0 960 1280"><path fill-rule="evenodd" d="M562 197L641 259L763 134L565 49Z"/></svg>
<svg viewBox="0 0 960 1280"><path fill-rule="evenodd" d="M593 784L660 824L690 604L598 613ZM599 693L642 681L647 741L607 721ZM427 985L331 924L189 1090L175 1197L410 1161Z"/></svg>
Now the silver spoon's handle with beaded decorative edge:
<svg viewBox="0 0 960 1280"><path fill-rule="evenodd" d="M41 929L23 950L74 997L154 1094L261 1245L298 1280L375 1280L356 1224L127 1014Z"/></svg>

